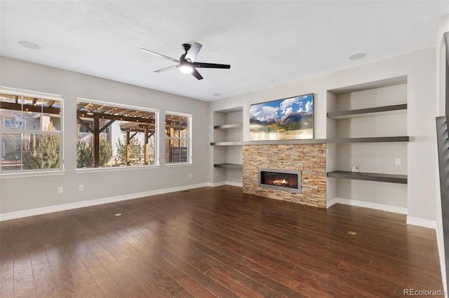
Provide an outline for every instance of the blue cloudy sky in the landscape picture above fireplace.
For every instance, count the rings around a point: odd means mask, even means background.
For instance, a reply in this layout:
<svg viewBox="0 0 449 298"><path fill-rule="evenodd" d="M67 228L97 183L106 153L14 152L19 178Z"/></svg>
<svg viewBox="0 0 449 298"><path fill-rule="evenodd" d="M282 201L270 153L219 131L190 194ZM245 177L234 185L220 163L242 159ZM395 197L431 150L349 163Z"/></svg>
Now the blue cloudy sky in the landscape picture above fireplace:
<svg viewBox="0 0 449 298"><path fill-rule="evenodd" d="M300 95L288 99L264 102L250 106L250 118L260 121L268 119L282 119L286 115L297 112L312 113L314 108L314 94Z"/></svg>

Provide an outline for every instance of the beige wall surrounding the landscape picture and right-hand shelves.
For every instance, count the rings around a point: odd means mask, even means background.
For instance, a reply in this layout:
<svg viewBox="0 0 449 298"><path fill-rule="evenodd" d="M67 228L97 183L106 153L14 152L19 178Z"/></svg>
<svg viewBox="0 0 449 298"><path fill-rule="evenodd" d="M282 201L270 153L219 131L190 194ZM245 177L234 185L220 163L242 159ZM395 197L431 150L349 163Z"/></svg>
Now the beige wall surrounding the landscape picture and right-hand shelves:
<svg viewBox="0 0 449 298"><path fill-rule="evenodd" d="M436 111L435 49L429 48L392 59L357 66L351 69L297 80L266 90L257 90L229 99L210 103L213 111L243 106L243 141L249 141L249 106L263 101L314 93L315 138L326 139L328 90L362 83L407 76L407 200L408 216L422 220L436 220L436 136L434 121ZM210 135L212 132L210 132ZM217 182L217 181L214 181ZM335 188L335 185L332 186ZM375 187L367 188L367 192ZM335 192L335 189L332 190ZM354 199L354 198L353 198ZM384 201L373 203L385 204ZM405 203L398 203L405 204Z"/></svg>

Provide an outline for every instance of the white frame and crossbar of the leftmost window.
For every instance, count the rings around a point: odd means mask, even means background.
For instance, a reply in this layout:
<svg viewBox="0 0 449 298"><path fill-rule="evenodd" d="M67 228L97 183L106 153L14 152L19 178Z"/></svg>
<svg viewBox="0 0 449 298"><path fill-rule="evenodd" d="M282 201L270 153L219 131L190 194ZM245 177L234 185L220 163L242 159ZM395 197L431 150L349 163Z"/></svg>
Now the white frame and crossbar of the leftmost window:
<svg viewBox="0 0 449 298"><path fill-rule="evenodd" d="M40 134L44 135L58 135L59 136L59 167L51 168L51 169L20 169L20 170L8 170L3 171L0 166L0 178L13 178L13 177L33 177L33 176L52 176L52 175L61 175L65 173L65 150L64 150L64 138L65 138L65 127L64 127L64 97L60 94L52 94L46 92L38 92L32 90L24 90L13 87L5 87L0 86L0 94L9 94L13 96L19 97L36 97L39 99L48 99L58 101L60 104L60 131L59 132L51 132L43 129L41 127L39 130L30 130L30 129L0 129L0 137L1 134L21 134L21 140L23 139L23 134ZM37 112L35 112L37 113ZM45 113L41 112L41 115ZM1 152L2 148L0 148ZM1 155L1 154L0 154ZM1 158L1 157L0 157Z"/></svg>

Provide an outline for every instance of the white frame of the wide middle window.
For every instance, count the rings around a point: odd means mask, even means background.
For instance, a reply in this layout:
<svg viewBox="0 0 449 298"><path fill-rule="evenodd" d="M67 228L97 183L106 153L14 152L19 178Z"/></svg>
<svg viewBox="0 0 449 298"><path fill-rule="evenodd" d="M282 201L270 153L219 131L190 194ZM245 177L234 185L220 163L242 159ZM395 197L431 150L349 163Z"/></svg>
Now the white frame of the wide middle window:
<svg viewBox="0 0 449 298"><path fill-rule="evenodd" d="M105 106L116 106L118 108L128 108L136 111L145 111L148 113L154 113L154 125L156 136L154 138L156 142L156 146L154 146L154 164L143 164L143 165L130 165L130 166L99 166L99 167L86 167L86 168L78 168L76 165L76 158L74 161L75 164L75 172L76 173L92 173L98 171L129 171L129 170L138 170L138 169L149 169L149 168L159 168L159 109L157 108L147 108L143 106L132 106L128 104L119 104L114 103L112 101L100 101L95 99L88 99L86 97L76 97L76 102L85 102L89 104L99 104ZM76 109L75 113L78 113L78 109ZM77 115L76 115L77 118ZM78 120L76 120L78 122ZM110 127L109 127L110 128ZM78 129L76 129L75 134L78 134ZM76 150L75 150L76 151Z"/></svg>

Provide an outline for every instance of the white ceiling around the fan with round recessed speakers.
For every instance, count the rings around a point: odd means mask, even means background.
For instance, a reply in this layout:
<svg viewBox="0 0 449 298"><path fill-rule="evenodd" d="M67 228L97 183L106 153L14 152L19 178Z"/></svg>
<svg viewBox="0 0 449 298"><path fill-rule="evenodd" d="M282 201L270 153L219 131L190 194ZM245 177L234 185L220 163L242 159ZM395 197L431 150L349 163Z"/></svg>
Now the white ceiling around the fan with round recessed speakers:
<svg viewBox="0 0 449 298"><path fill-rule="evenodd" d="M449 1L1 0L0 13L2 56L213 101L434 47ZM194 41L196 61L231 69L154 73L174 63L140 51L179 59Z"/></svg>

